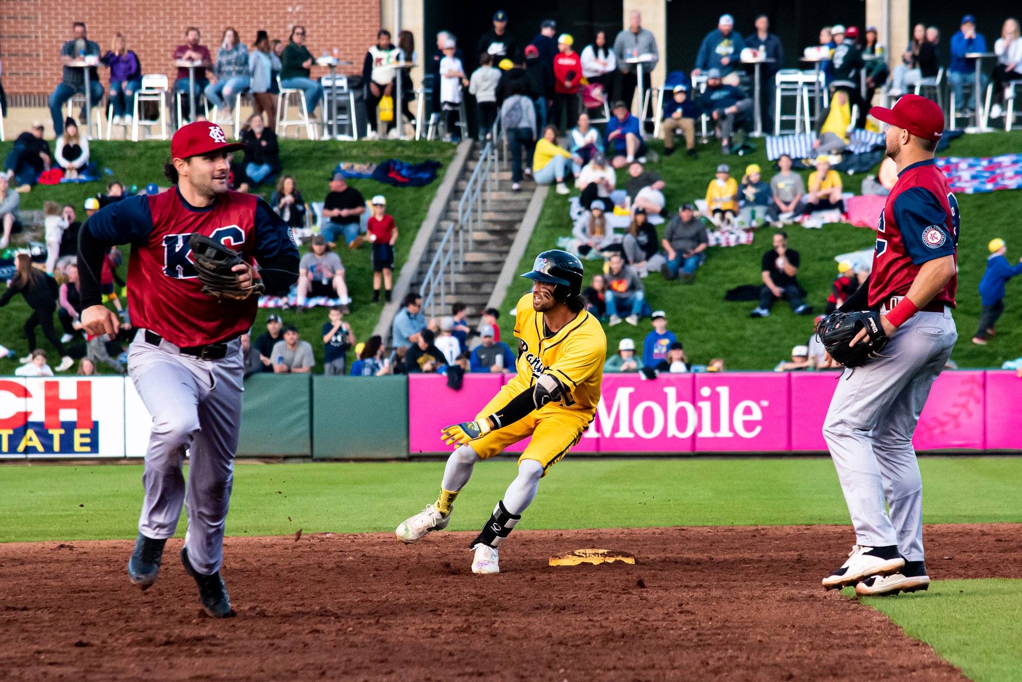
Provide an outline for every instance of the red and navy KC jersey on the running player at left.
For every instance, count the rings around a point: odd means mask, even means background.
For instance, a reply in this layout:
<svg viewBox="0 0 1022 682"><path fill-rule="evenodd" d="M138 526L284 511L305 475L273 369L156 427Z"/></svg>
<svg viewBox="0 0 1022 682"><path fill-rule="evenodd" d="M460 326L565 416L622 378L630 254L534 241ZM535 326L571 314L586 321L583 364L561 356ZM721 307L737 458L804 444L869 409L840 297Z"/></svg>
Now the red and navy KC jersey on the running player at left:
<svg viewBox="0 0 1022 682"><path fill-rule="evenodd" d="M291 230L257 196L229 191L211 206L189 204L177 188L155 196L111 203L88 222L92 236L131 243L128 305L132 322L181 348L235 338L251 326L258 297L217 301L202 293L188 238L193 232L218 239L247 262L285 252L297 259Z"/></svg>

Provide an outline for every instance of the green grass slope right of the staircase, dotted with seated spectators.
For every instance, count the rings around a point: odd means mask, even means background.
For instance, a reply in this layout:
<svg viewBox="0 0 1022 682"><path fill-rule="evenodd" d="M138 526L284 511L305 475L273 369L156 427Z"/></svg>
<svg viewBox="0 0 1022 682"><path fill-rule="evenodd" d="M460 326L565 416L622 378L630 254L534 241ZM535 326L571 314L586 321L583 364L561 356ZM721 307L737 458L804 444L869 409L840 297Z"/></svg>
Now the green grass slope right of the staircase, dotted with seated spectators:
<svg viewBox="0 0 1022 682"><path fill-rule="evenodd" d="M648 166L666 181L664 195L667 207L673 212L680 203L705 196L706 185L713 178L719 163L731 165L731 174L736 180L741 180L748 164L759 164L764 179L769 181L775 170L766 161L764 143L761 140L756 142L759 148L752 154L723 156L719 146L711 140L706 145L699 145L698 160L678 153L670 157L661 155L659 163ZM651 146L658 151L662 148L659 142L653 142ZM1022 151L1022 133L1002 132L960 138L941 155L990 156L1018 151ZM807 175L807 172L803 173L803 176ZM841 174L845 189L857 193L865 175ZM618 172L618 187L623 187L626 177L624 171ZM980 302L976 287L986 266L987 242L993 237L1004 237L1008 240L1009 259L1014 261L1022 256L1022 243L1013 241L1018 234L1016 215L1020 197L1022 193L1017 191L958 195L962 210L959 295L955 313L959 343L953 359L961 367L1000 367L1005 360L1022 355L1022 324L1019 324L1022 320L1022 303L1019 303L1022 282L1019 280L1008 285L1005 300L1007 312L1002 317L996 338L985 347L970 343L979 320ZM558 237L570 235L568 198L554 192L547 196L536 231L518 266L519 272L531 267L537 254L556 247ZM668 328L685 344L693 363L705 364L711 358L721 357L726 360L729 369L772 369L778 361L790 359L793 346L808 339L812 318L792 315L784 303L774 307L771 317L753 320L748 314L755 307L754 303L724 301L727 289L761 281L759 259L771 247L773 232L770 228L757 230L751 246L710 248L709 258L700 268L694 284L665 282L658 273L650 274L645 280L647 301L653 310L663 309L666 312ZM801 255L798 280L809 292L807 303L820 312L823 312L831 283L837 276L834 256L868 248L875 241L872 230L843 224L827 225L820 230L792 225L787 232L789 246ZM663 226L658 228L658 234L662 236ZM602 261L586 261L585 267L588 283L594 274L601 271ZM503 337L510 337L514 326L514 319L507 314L508 311L527 289L525 280L516 280L508 289L501 307ZM650 329L648 319L640 321L638 327L626 323L607 327L608 352L616 351L617 343L625 336L641 346Z"/></svg>

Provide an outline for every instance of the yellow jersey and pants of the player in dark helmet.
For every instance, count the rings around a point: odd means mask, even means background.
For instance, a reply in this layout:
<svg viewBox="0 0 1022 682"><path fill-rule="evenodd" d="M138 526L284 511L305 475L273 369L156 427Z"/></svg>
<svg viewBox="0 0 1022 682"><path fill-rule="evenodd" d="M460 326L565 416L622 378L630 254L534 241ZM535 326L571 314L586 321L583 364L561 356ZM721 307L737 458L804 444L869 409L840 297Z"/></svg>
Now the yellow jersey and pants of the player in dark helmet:
<svg viewBox="0 0 1022 682"><path fill-rule="evenodd" d="M486 404L476 418L493 414L524 391L531 391L540 374L556 376L565 396L548 403L522 419L472 441L481 459L500 454L504 448L531 437L518 458L533 459L546 470L561 460L589 428L600 402L607 337L600 322L583 311L555 334L549 334L543 313L532 310L532 294L518 301L514 335L518 337L518 373Z"/></svg>

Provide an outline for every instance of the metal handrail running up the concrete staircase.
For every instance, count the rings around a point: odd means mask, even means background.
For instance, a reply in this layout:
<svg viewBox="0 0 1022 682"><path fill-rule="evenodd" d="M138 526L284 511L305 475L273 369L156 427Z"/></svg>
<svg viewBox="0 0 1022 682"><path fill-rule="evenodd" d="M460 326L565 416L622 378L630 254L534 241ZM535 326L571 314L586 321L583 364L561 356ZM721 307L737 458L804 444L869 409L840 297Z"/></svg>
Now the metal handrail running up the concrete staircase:
<svg viewBox="0 0 1022 682"><path fill-rule="evenodd" d="M423 310L429 311L429 316L435 315L437 307L437 292L439 293L439 307L443 310L447 294L454 293L455 273L464 269L465 266L465 233L468 233L468 251L472 251L472 233L475 227L482 222L483 203L485 210L491 207L492 194L500 180L497 172L503 164L500 161L500 119L494 124L490 141L479 152L479 160L475 169L465 184L465 191L458 201L458 219L448 224L436 246L436 253L426 269L426 274L422 278L419 286L419 295L422 297ZM507 151L504 152L504 162L507 162ZM457 244L455 243L457 241ZM457 256L455 248L457 246Z"/></svg>

